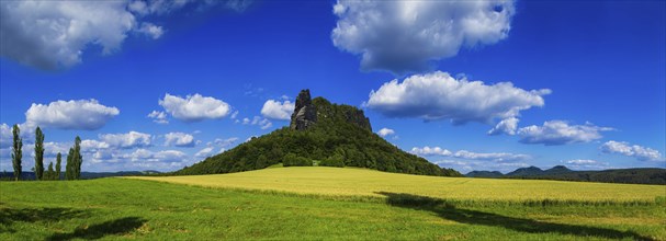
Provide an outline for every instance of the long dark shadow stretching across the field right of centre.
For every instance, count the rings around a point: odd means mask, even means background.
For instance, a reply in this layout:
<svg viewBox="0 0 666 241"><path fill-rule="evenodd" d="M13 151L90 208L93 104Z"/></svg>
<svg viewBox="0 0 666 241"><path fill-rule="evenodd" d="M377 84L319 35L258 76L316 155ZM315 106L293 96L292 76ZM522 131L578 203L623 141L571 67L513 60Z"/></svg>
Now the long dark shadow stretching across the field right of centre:
<svg viewBox="0 0 666 241"><path fill-rule="evenodd" d="M447 203L444 199L426 196L386 192L380 192L377 194L386 196L386 203L388 205L432 211L444 219L461 223L500 227L529 233L555 232L561 234L578 236L582 238L599 237L606 239L652 240L651 238L643 237L631 231L623 232L606 228L552 223L528 218L513 218L492 213L462 209L456 208L455 205L451 203Z"/></svg>

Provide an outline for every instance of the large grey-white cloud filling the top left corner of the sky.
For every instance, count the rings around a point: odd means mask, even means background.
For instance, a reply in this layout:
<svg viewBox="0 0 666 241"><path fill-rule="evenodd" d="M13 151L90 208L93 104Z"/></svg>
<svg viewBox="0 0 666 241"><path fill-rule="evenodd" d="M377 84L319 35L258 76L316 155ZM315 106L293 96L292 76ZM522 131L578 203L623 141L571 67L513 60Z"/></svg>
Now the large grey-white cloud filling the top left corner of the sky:
<svg viewBox="0 0 666 241"><path fill-rule="evenodd" d="M91 45L106 55L131 33L159 38L165 30L140 19L190 3L242 11L249 1L0 1L0 55L41 69L71 67Z"/></svg>

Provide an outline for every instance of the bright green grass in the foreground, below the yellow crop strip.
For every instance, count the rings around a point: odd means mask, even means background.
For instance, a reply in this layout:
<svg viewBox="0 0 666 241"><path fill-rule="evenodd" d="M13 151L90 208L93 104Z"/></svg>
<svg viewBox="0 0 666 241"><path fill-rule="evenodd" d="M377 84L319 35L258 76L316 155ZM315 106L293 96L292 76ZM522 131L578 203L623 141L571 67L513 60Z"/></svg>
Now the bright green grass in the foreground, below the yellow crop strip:
<svg viewBox="0 0 666 241"><path fill-rule="evenodd" d="M1 182L0 240L665 240L661 203L450 202L206 188L129 179Z"/></svg>

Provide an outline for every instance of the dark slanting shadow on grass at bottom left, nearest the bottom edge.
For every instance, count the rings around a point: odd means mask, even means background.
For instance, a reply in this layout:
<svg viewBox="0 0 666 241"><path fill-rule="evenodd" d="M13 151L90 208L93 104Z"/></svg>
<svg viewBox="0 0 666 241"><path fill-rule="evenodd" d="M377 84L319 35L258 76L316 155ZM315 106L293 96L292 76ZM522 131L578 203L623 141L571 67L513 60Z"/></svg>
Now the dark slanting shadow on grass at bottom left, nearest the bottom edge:
<svg viewBox="0 0 666 241"><path fill-rule="evenodd" d="M46 240L100 239L105 236L123 234L142 227L145 219L137 217L118 218L86 228L77 228L70 233L55 233Z"/></svg>

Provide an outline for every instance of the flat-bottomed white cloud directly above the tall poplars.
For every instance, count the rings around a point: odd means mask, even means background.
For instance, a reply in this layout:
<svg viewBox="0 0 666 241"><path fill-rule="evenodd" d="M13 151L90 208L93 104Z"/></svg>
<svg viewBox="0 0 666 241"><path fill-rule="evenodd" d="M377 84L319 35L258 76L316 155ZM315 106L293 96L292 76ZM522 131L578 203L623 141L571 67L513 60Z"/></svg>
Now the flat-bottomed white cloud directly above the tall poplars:
<svg viewBox="0 0 666 241"><path fill-rule="evenodd" d="M48 105L33 103L25 112L25 124L31 127L94 130L120 113L116 107L104 106L94 99L56 101Z"/></svg>

